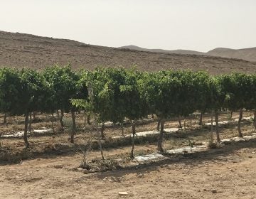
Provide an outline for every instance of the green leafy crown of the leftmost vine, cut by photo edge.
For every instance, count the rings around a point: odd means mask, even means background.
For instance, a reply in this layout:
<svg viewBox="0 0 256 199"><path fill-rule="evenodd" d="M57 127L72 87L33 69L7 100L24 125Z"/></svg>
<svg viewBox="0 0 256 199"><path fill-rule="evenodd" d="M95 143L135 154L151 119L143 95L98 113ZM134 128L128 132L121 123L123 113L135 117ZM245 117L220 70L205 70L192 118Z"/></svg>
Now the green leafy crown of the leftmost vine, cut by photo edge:
<svg viewBox="0 0 256 199"><path fill-rule="evenodd" d="M11 114L41 111L49 92L43 76L27 68L1 68L0 88L0 111Z"/></svg>

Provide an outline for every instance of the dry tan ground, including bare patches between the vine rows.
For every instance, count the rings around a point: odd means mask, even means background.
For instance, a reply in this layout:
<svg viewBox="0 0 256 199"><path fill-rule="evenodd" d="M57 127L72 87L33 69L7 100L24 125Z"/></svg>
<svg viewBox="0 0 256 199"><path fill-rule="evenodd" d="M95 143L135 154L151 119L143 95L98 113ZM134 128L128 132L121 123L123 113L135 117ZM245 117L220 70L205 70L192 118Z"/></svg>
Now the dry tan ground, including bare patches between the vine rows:
<svg viewBox="0 0 256 199"><path fill-rule="evenodd" d="M251 115L245 112L245 117ZM46 115L38 116L44 125L50 127ZM234 113L233 118L238 114ZM46 121L44 121L44 119ZM22 122L22 117L16 120ZM204 122L210 117L206 115ZM226 120L227 114L221 114L220 120ZM9 118L6 131L12 129L14 118ZM16 121L15 120L15 121ZM22 124L16 128L22 128ZM78 119L82 125L82 116ZM176 120L166 123L166 127L176 127ZM201 143L209 139L209 129L197 129L196 119L192 127L164 142L165 149L188 146L188 139ZM21 126L20 126L21 125ZM48 126L47 126L48 125ZM56 124L57 125L57 124ZM3 126L2 126L3 127ZM156 122L138 127L139 130L154 129ZM251 134L252 124L244 123L244 134ZM120 134L120 128L107 128L106 134ZM129 133L129 125L125 127ZM220 128L221 139L236 136L235 125ZM76 135L80 141L81 134ZM54 143L67 142L68 134L32 136L29 138L34 150ZM22 139L4 139L3 146L23 149ZM127 157L130 146L105 149L105 156ZM155 144L142 144L135 147L136 154L156 151ZM99 151L92 151L88 158L100 157ZM192 156L182 156L179 160L167 159L155 163L146 163L136 167L107 171L104 173L83 174L74 168L80 165L82 156L75 151L68 154L41 154L33 160L23 160L17 164L0 165L0 198L255 198L256 197L256 144L255 141L226 145L221 149ZM119 191L127 191L128 196L119 196Z"/></svg>

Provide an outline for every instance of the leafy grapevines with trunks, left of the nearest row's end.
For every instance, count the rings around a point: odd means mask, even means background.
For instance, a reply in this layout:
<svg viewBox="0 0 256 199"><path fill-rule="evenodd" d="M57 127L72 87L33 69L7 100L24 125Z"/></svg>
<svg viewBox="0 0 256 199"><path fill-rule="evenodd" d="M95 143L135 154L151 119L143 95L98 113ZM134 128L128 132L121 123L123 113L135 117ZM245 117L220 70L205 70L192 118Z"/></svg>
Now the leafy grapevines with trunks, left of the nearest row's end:
<svg viewBox="0 0 256 199"><path fill-rule="evenodd" d="M73 114L75 107L70 98L85 98L87 89L78 84L80 75L65 67L54 66L38 72L24 68L1 68L0 70L0 112L25 116L24 136L26 147L28 117L31 112L51 113L61 110L60 124L63 126L63 112ZM75 120L70 141L73 142Z"/></svg>

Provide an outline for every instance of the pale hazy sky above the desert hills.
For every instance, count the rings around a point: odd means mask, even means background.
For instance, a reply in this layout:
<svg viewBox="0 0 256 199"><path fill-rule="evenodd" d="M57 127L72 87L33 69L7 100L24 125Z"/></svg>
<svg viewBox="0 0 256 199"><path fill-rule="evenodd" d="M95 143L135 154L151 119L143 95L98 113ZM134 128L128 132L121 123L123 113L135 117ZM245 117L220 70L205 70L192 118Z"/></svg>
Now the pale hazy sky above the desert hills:
<svg viewBox="0 0 256 199"><path fill-rule="evenodd" d="M119 47L256 47L256 0L0 0L0 30Z"/></svg>

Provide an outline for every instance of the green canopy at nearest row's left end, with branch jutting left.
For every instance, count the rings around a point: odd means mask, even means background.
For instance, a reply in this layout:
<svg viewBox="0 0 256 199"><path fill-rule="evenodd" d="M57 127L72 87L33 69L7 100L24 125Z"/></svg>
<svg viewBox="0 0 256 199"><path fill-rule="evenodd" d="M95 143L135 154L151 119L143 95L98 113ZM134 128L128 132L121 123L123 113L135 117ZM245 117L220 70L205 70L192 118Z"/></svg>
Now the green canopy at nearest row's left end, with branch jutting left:
<svg viewBox="0 0 256 199"><path fill-rule="evenodd" d="M124 68L97 68L85 72L82 81L90 90L89 100L73 100L73 104L97 114L100 122L122 122L146 114L145 102L139 94L137 81L142 76L137 70Z"/></svg>

